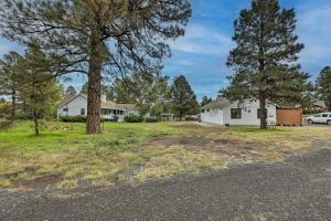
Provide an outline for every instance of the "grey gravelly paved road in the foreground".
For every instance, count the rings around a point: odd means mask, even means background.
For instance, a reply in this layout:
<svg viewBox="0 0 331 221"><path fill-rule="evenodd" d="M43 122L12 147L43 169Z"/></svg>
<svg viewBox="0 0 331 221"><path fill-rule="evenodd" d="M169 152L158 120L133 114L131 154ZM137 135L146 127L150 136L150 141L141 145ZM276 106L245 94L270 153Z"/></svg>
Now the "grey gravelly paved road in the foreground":
<svg viewBox="0 0 331 221"><path fill-rule="evenodd" d="M0 193L0 220L331 220L331 149L138 187Z"/></svg>

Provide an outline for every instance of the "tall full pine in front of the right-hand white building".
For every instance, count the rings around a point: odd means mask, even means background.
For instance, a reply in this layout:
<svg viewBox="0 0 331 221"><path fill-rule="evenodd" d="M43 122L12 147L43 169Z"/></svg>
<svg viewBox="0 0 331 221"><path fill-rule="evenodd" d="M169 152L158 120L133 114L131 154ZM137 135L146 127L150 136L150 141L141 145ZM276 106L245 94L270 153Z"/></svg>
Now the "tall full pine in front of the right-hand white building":
<svg viewBox="0 0 331 221"><path fill-rule="evenodd" d="M266 128L266 103L299 102L308 74L300 72L295 10L280 9L278 0L254 0L234 23L236 48L227 65L234 67L231 86L223 93L233 99L258 98L260 128Z"/></svg>

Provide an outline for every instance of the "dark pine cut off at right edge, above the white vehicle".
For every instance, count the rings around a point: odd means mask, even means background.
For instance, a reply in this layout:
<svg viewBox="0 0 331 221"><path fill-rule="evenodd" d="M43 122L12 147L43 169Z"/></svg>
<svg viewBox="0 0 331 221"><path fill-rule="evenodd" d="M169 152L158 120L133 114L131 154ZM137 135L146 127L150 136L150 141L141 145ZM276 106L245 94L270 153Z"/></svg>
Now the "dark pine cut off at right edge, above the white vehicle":
<svg viewBox="0 0 331 221"><path fill-rule="evenodd" d="M329 112L331 112L331 67L325 66L317 80L318 95L325 101Z"/></svg>

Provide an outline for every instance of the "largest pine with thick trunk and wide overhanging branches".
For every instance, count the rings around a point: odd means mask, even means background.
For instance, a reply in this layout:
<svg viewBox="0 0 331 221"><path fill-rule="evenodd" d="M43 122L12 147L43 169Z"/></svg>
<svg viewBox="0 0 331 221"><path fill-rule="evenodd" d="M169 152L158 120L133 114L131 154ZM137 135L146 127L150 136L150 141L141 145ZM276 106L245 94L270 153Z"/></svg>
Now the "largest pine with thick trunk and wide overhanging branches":
<svg viewBox="0 0 331 221"><path fill-rule="evenodd" d="M102 73L154 73L190 15L189 0L3 0L0 28L9 40L40 45L61 64L55 75L88 75L86 131L96 134Z"/></svg>

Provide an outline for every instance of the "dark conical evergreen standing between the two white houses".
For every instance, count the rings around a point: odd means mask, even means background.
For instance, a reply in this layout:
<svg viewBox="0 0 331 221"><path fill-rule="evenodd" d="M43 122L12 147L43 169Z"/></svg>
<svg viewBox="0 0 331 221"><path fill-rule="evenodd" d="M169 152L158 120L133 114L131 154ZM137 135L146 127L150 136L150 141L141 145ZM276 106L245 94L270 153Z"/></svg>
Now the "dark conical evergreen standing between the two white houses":
<svg viewBox="0 0 331 221"><path fill-rule="evenodd" d="M182 120L185 115L199 113L199 103L186 78L177 77L170 88L173 113Z"/></svg>

